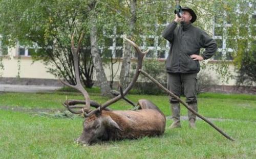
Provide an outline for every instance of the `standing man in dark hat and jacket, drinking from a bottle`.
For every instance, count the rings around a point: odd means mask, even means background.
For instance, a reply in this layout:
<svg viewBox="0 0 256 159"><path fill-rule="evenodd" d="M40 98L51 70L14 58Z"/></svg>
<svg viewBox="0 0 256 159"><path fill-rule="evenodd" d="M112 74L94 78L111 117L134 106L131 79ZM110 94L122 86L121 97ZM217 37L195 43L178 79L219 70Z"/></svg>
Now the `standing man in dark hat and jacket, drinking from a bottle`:
<svg viewBox="0 0 256 159"><path fill-rule="evenodd" d="M189 107L197 109L197 73L200 70L199 61L206 60L214 55L217 43L203 30L191 23L197 19L196 13L188 8L182 9L181 17L176 17L163 31L162 36L170 42L169 56L166 61L167 88L180 97L181 85L184 85L184 94ZM180 25L177 25L180 22ZM199 55L200 48L205 48ZM173 123L170 128L181 127L180 103L170 97ZM196 115L188 111L189 126L196 128Z"/></svg>

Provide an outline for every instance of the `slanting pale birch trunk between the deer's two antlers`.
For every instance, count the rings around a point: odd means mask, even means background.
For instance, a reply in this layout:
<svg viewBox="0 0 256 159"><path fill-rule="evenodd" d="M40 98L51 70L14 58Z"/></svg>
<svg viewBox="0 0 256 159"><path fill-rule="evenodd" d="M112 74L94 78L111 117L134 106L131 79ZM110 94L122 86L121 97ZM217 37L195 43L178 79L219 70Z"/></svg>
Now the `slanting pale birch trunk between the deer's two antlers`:
<svg viewBox="0 0 256 159"><path fill-rule="evenodd" d="M108 80L106 79L106 75L102 66L101 57L99 54L98 42L97 42L97 26L96 26L95 17L92 17L91 24L92 24L92 28L90 30L91 54L93 58L93 65L95 68L96 77L100 85L101 95L112 96L110 92L111 88L108 85Z"/></svg>

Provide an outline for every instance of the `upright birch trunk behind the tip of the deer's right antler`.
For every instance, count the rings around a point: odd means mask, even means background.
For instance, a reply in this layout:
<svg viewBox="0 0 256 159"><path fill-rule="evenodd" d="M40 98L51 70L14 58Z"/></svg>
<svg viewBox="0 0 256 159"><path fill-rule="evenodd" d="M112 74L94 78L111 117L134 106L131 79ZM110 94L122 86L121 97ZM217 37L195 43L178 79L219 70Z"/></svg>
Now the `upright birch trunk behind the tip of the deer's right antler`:
<svg viewBox="0 0 256 159"><path fill-rule="evenodd" d="M130 31L127 34L127 38L131 39L131 35L134 33L135 23L137 20L136 17L136 2L137 0L131 0L131 19L130 19ZM129 77L130 77L130 66L131 66L131 58L132 58L132 46L130 43L125 42L124 46L124 54L123 54L123 62L120 72L120 83L121 86L125 89L129 85Z"/></svg>

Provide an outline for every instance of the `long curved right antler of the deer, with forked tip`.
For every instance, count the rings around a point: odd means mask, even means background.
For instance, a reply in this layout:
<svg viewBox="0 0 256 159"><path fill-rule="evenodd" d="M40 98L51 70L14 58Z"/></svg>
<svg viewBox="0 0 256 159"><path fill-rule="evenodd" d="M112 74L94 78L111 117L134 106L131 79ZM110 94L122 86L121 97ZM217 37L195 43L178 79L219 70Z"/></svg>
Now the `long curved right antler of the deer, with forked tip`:
<svg viewBox="0 0 256 159"><path fill-rule="evenodd" d="M128 41L131 45L134 46L134 48L136 49L136 52L138 54L138 61L137 61L137 68L136 68L136 73L133 77L133 80L132 82L127 86L127 88L123 91L123 95L119 94L118 96L106 101L105 103L102 104L102 109L108 107L110 104L120 100L122 98L122 96L125 96L133 87L133 85L135 84L135 82L137 81L138 77L139 77L139 70L142 68L142 62L143 62L143 58L144 56L147 54L147 52L149 51L146 50L144 52L141 51L141 49L139 48L138 45L136 45L133 41L127 39L127 38L124 38L126 41ZM88 113L87 116L91 116L93 114L95 114L96 112L98 112L99 109L96 109L96 110L93 110L92 112Z"/></svg>

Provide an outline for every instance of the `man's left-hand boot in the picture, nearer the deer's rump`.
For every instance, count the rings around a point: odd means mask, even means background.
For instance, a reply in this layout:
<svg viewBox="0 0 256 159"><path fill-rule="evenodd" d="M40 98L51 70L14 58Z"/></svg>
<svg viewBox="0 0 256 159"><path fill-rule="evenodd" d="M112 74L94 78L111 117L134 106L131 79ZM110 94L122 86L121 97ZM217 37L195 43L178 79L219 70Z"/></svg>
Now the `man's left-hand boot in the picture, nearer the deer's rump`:
<svg viewBox="0 0 256 159"><path fill-rule="evenodd" d="M173 123L170 125L169 128L178 128L181 127L180 124L180 103L171 103L171 109L172 109L172 117L173 117Z"/></svg>

